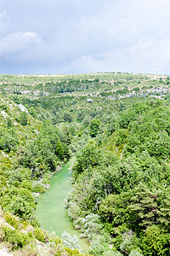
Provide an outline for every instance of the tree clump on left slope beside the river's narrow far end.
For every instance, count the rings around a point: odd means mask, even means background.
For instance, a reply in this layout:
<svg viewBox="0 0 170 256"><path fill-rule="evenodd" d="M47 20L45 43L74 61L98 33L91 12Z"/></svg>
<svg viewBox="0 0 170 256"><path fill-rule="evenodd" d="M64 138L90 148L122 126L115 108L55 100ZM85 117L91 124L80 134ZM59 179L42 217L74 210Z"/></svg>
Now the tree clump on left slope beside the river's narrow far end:
<svg viewBox="0 0 170 256"><path fill-rule="evenodd" d="M58 128L46 121L36 139L27 144L22 162L31 168L33 177L42 177L48 171L55 171L58 158L64 160L69 156L68 147L59 141Z"/></svg>

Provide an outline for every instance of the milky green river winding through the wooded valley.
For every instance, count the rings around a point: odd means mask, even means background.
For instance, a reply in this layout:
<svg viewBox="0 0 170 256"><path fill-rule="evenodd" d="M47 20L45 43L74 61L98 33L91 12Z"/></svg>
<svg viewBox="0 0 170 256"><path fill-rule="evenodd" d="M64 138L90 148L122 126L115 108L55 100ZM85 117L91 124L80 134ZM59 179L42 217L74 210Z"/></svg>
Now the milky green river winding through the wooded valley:
<svg viewBox="0 0 170 256"><path fill-rule="evenodd" d="M71 191L72 163L73 160L70 160L51 178L50 188L38 198L36 216L41 228L49 233L55 231L57 236L61 236L66 231L71 236L76 235L83 251L87 253L88 242L80 238L79 230L73 228L65 209L64 201Z"/></svg>

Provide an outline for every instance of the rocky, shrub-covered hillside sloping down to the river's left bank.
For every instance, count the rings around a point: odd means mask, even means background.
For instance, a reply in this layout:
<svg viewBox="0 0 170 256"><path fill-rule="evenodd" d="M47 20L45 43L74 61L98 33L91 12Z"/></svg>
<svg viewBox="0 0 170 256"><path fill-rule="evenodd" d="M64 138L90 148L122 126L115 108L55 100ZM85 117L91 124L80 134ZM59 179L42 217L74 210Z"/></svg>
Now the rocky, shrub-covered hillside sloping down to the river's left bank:
<svg viewBox="0 0 170 256"><path fill-rule="evenodd" d="M66 135L50 121L33 118L21 104L5 96L0 101L1 247L12 255L81 255L41 230L35 218L38 195L70 157Z"/></svg>

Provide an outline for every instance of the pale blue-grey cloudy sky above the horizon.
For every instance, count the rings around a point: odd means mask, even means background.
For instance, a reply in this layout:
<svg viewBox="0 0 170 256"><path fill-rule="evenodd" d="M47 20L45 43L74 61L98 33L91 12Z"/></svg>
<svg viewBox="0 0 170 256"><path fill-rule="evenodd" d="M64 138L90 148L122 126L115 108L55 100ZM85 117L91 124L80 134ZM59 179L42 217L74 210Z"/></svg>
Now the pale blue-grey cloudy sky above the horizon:
<svg viewBox="0 0 170 256"><path fill-rule="evenodd" d="M0 73L170 75L169 0L0 0Z"/></svg>

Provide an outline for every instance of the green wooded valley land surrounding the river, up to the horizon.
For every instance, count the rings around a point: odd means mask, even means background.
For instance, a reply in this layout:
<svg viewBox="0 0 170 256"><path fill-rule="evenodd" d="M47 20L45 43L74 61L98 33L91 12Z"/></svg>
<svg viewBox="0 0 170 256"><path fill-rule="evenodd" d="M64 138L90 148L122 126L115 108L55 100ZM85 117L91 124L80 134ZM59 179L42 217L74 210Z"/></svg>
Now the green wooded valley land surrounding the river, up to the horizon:
<svg viewBox="0 0 170 256"><path fill-rule="evenodd" d="M66 207L103 256L170 255L168 76L0 75L2 247L81 255L40 229L35 209L69 158Z"/></svg>

